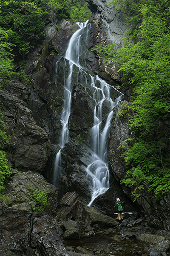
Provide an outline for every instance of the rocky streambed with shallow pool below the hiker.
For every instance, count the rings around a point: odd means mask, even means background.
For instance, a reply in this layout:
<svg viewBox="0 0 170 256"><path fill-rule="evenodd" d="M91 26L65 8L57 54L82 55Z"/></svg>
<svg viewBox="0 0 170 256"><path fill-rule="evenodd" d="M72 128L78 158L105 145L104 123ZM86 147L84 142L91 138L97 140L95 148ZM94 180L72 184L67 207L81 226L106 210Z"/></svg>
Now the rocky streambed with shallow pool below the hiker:
<svg viewBox="0 0 170 256"><path fill-rule="evenodd" d="M99 254L103 256L170 255L170 233L144 227L142 222L144 224L144 218L126 213L122 224L114 228L100 228L99 225L91 227L91 223L86 223L82 226L80 240L65 240L63 243L69 253L96 256Z"/></svg>

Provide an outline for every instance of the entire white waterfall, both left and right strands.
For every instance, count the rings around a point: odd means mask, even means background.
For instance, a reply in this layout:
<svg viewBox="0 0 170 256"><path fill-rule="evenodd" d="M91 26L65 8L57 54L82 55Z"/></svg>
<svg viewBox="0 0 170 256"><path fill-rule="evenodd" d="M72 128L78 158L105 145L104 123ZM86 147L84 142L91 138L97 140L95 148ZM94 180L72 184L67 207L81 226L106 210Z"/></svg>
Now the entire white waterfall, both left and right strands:
<svg viewBox="0 0 170 256"><path fill-rule="evenodd" d="M108 156L107 156L107 141L109 128L111 126L111 119L113 117L112 109L122 99L122 93L119 93L119 97L115 102L111 99L111 85L107 84L104 80L96 76L96 79L86 73L85 64L85 52L82 52L81 39L82 35L86 33L86 40L88 39L88 31L91 28L91 24L86 21L85 23L77 23L80 29L72 35L68 45L68 49L65 53L64 61L64 99L63 99L63 111L61 116L62 123L62 135L60 150L56 155L54 166L54 179L53 184L59 188L61 179L61 148L65 143L69 141L68 119L71 113L71 90L72 90L72 74L76 67L77 81L80 77L83 77L84 83L87 80L91 80L90 84L94 92L94 126L91 134L93 138L93 161L87 167L87 179L89 180L91 189L91 202L88 206L91 206L94 199L104 193L109 188L109 169L108 169ZM80 64L81 58L81 64ZM69 73L66 75L65 67L69 63ZM83 63L83 67L82 67ZM85 85L85 84L84 84ZM87 86L87 85L86 85ZM116 90L114 88L114 90ZM103 113L104 112L104 113Z"/></svg>

